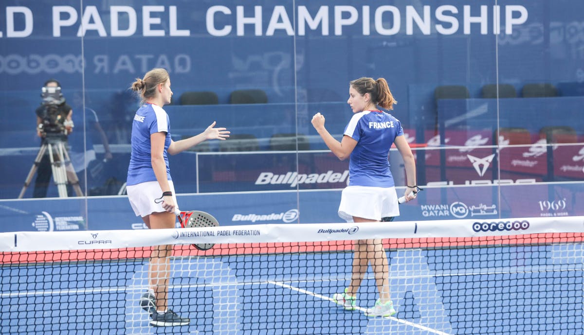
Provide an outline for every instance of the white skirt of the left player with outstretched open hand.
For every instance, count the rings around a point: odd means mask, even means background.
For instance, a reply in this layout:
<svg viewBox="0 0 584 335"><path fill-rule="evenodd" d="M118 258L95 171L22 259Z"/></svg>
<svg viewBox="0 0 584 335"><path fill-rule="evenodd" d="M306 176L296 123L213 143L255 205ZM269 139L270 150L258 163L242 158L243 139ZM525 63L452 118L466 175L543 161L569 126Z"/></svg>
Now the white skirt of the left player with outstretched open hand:
<svg viewBox="0 0 584 335"><path fill-rule="evenodd" d="M168 181L168 186L171 187L172 198L178 206L178 203L176 202L175 185L172 183L172 180ZM162 199L159 199L162 197L162 189L157 181L130 185L126 187L126 191L128 193L130 205L137 217L145 217L152 213L165 212L164 208L162 208ZM154 200L159 201L159 203L156 203Z"/></svg>

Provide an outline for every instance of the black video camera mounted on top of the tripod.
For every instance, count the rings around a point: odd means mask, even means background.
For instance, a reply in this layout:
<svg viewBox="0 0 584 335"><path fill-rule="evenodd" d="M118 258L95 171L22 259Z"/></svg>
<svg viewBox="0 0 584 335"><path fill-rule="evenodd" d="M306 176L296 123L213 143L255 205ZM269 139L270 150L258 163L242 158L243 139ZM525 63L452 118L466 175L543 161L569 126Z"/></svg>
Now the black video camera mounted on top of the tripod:
<svg viewBox="0 0 584 335"><path fill-rule="evenodd" d="M72 127L72 122L67 121L68 111L62 110L61 106L65 103L65 98L61 93L60 87L43 86L41 95L41 109L39 117L42 122L39 124L39 130L45 136L58 134L67 135L65 127Z"/></svg>

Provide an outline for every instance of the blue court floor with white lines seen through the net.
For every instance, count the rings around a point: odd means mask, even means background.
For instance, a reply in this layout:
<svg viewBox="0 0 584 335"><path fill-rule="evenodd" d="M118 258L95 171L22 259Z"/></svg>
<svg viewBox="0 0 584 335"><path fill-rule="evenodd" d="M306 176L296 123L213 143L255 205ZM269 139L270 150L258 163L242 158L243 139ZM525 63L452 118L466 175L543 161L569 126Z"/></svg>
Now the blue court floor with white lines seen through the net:
<svg viewBox="0 0 584 335"><path fill-rule="evenodd" d="M353 312L329 298L352 253L177 257L171 308L189 326L155 328L138 299L148 261L5 265L2 334L582 334L581 244L388 252L394 317L367 317L372 273Z"/></svg>

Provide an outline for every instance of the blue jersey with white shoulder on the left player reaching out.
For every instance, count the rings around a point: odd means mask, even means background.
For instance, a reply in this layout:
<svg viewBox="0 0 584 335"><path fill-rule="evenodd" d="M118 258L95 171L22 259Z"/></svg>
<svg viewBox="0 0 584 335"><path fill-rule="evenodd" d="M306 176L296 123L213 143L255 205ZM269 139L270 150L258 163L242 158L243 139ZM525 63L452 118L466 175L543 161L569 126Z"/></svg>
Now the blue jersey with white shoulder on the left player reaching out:
<svg viewBox="0 0 584 335"><path fill-rule="evenodd" d="M128 166L127 185L144 182L154 182L156 176L152 169L150 135L155 132L166 132L164 141L164 161L166 162L166 177L171 179L171 169L168 165L168 146L171 145L171 124L168 114L155 104L144 104L134 116L132 123L132 153Z"/></svg>

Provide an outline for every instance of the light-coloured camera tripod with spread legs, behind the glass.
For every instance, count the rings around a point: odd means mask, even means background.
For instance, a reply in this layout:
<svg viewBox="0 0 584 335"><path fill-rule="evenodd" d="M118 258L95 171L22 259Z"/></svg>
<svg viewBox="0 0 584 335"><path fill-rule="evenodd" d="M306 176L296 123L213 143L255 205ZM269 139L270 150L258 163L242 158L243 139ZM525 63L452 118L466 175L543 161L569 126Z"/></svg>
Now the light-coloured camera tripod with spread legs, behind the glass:
<svg viewBox="0 0 584 335"><path fill-rule="evenodd" d="M79 187L79 179L75 173L73 165L71 164L71 159L69 158L69 152L67 151L65 142L60 138L45 138L39 149L39 153L37 154L36 159L34 159L33 166L30 168L29 175L26 177L25 186L22 187L18 198L22 199L22 197L25 195L25 191L30 185L30 180L33 179L34 173L39 168L39 164L47 150L48 158L51 161L53 179L57 185L59 197L68 197L67 183L73 186L75 194L77 194L78 197L83 196L81 187Z"/></svg>

